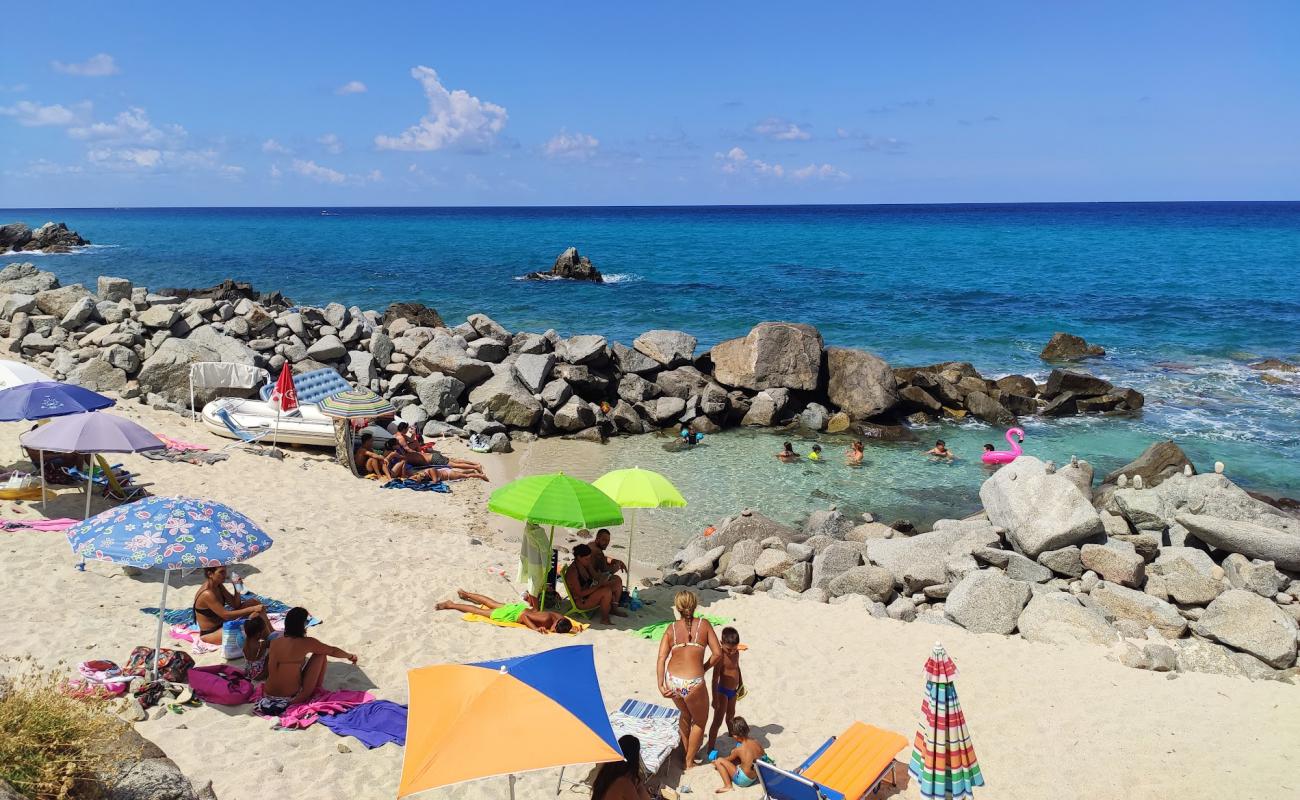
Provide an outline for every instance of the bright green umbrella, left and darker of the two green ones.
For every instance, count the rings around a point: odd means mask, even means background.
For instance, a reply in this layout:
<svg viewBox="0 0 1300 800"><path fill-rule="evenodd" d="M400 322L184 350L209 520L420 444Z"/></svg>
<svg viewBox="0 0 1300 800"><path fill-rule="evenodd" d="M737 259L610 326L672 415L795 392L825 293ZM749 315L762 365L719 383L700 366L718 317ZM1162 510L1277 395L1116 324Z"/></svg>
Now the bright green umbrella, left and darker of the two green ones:
<svg viewBox="0 0 1300 800"><path fill-rule="evenodd" d="M598 528L623 524L623 511L616 502L592 484L563 472L530 475L511 481L491 493L488 510L512 519L551 526L547 553L555 549L555 526ZM542 607L546 606L545 588L541 604Z"/></svg>

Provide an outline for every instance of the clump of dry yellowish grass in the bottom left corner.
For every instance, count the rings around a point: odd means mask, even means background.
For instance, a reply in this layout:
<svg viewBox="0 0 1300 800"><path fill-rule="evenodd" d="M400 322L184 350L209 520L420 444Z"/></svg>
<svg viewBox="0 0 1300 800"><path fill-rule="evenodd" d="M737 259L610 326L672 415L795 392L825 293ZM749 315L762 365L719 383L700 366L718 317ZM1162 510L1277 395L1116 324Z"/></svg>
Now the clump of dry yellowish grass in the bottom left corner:
<svg viewBox="0 0 1300 800"><path fill-rule="evenodd" d="M21 662L0 678L0 779L34 800L100 796L105 744L126 725L103 700L70 697L68 674Z"/></svg>

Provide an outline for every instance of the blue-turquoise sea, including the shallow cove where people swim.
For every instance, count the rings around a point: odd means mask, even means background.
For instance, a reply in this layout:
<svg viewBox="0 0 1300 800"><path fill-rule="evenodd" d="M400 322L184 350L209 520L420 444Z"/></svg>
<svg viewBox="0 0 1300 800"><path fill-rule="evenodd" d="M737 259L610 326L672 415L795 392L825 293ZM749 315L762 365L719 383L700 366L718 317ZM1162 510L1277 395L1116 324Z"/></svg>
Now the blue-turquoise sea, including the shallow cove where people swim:
<svg viewBox="0 0 1300 800"><path fill-rule="evenodd" d="M760 320L793 320L894 366L959 359L987 376L1043 377L1037 351L1069 330L1105 346L1108 356L1087 368L1145 392L1147 408L1131 419L1031 420L1027 451L1078 454L1108 471L1173 437L1204 468L1223 460L1251 488L1300 493L1300 376L1271 384L1247 367L1300 360L1300 203L0 212L10 220L65 221L95 242L74 255L22 255L65 282L233 277L302 303L419 300L452 324L481 311L515 330L624 342L680 328L705 347ZM611 281L515 280L571 245ZM867 468L850 471L841 442L827 441L831 462L786 467L772 458L779 438L737 432L686 454L644 437L598 460L634 459L680 477L696 502L659 523L667 548L745 505L793 520L838 502L916 522L976 505L974 457L984 441L1004 444L1001 432L948 424L918 433L971 458L931 464L915 445L878 445ZM595 463L560 445L536 458L546 453Z"/></svg>

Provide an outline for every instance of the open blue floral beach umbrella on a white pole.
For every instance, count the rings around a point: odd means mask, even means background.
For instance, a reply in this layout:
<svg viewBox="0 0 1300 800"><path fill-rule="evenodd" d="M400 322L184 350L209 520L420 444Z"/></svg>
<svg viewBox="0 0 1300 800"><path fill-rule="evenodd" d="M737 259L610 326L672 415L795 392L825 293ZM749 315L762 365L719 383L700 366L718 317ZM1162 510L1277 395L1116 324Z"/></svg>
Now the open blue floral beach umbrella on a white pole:
<svg viewBox="0 0 1300 800"><path fill-rule="evenodd" d="M239 563L270 548L272 541L251 519L221 503L191 497L147 497L68 528L68 544L82 561L164 571L153 647L157 674L172 570Z"/></svg>

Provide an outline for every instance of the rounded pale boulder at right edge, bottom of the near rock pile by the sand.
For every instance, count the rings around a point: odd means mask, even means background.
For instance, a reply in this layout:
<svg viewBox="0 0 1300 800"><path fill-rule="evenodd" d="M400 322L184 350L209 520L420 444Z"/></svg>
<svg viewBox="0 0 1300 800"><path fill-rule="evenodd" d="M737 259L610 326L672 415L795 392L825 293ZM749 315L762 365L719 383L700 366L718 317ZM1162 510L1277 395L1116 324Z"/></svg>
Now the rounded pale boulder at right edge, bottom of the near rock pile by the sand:
<svg viewBox="0 0 1300 800"><path fill-rule="evenodd" d="M1192 630L1279 670L1296 662L1296 622L1254 592L1223 592Z"/></svg>

